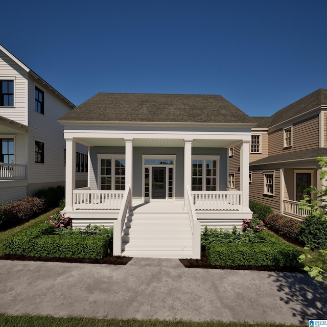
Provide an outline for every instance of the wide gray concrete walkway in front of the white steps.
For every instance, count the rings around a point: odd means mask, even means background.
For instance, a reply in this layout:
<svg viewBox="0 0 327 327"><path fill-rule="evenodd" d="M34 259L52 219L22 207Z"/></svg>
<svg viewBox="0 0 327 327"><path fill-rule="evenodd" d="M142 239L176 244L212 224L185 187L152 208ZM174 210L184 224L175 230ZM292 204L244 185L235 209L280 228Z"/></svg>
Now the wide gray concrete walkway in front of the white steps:
<svg viewBox="0 0 327 327"><path fill-rule="evenodd" d="M0 260L0 311L99 318L220 319L308 324L327 319L326 289L307 274Z"/></svg>

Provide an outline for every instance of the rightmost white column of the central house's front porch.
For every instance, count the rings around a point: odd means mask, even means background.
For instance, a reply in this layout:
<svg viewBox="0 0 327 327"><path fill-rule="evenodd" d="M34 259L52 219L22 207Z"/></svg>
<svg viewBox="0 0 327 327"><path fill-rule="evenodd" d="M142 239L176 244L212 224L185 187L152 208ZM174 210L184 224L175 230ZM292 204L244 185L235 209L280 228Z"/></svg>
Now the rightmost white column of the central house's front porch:
<svg viewBox="0 0 327 327"><path fill-rule="evenodd" d="M243 141L240 156L240 190L242 191L242 211L249 211L249 169L250 142Z"/></svg>

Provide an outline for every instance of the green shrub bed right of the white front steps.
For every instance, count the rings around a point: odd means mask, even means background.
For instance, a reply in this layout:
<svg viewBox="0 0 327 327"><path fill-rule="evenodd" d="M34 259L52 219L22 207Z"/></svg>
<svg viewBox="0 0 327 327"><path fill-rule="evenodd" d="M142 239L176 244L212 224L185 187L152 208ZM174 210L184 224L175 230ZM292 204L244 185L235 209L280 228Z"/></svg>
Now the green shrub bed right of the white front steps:
<svg viewBox="0 0 327 327"><path fill-rule="evenodd" d="M214 266L300 267L302 251L269 232L241 233L206 229L202 235L209 262ZM229 235L229 236L228 236Z"/></svg>

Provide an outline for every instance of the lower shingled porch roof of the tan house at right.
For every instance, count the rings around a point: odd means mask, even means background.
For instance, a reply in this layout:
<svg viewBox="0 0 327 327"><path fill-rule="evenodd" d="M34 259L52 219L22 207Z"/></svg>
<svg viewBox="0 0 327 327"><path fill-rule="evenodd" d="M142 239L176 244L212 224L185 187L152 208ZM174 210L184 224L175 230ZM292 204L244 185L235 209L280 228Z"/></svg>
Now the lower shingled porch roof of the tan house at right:
<svg viewBox="0 0 327 327"><path fill-rule="evenodd" d="M270 155L266 158L252 161L250 162L250 166L273 164L276 162L308 160L316 157L327 157L327 148L316 148L300 151L285 151L281 154Z"/></svg>

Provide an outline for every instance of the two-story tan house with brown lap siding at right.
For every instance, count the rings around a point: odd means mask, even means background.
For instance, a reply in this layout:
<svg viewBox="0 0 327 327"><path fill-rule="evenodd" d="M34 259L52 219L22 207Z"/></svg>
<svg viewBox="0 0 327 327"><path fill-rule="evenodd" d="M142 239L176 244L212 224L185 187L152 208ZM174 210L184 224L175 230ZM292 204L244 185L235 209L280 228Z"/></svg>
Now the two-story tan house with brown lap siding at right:
<svg viewBox="0 0 327 327"><path fill-rule="evenodd" d="M270 117L252 117L250 146L250 200L275 212L302 218L308 211L299 201L308 186L321 188L316 157L327 157L327 89L277 111ZM229 150L229 186L239 189L239 147ZM233 159L235 157L235 159Z"/></svg>

